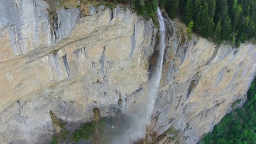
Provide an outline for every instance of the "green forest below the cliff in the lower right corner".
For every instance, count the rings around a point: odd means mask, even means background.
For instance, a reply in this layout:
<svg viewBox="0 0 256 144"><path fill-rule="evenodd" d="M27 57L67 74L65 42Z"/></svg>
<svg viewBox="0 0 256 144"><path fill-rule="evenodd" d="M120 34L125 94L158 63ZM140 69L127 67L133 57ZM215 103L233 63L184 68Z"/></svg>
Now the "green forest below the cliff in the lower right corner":
<svg viewBox="0 0 256 144"><path fill-rule="evenodd" d="M247 92L247 101L224 116L220 124L214 126L213 132L207 134L200 144L256 144L256 87L255 81ZM241 100L234 101L236 107Z"/></svg>

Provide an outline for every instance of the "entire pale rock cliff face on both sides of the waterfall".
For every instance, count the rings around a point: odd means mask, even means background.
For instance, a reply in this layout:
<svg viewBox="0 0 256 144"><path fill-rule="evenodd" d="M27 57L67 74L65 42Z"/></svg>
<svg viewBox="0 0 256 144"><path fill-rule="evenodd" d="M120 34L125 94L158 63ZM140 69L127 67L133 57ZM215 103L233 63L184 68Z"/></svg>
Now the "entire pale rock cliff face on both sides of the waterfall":
<svg viewBox="0 0 256 144"><path fill-rule="evenodd" d="M51 1L0 2L1 143L49 143L54 132L49 111L82 123L92 121L94 108L102 117L116 109L132 115L147 98L149 63L158 53L153 23L120 6L91 6L85 17L79 13ZM167 26L148 132L155 134L147 141L174 127L177 141L194 144L234 101L246 99L256 74L256 46L233 49L197 36L186 40L177 23ZM158 137L159 143L168 143L169 135Z"/></svg>

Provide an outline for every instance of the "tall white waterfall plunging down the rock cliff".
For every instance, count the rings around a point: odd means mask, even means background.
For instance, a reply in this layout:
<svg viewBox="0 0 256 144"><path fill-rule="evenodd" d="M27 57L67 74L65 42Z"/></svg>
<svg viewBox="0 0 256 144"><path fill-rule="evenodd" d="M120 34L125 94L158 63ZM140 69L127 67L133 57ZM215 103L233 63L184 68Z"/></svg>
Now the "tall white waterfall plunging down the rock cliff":
<svg viewBox="0 0 256 144"><path fill-rule="evenodd" d="M136 112L132 114L133 121L130 124L130 128L125 131L120 137L115 138L112 143L115 144L131 144L143 138L146 134L146 126L151 121L151 114L154 109L154 103L157 98L158 88L161 80L162 64L164 59L164 47L165 47L165 26L162 12L158 7L157 10L159 20L160 31L160 43L159 43L159 57L156 65L156 69L152 74L152 78L149 80L148 96L147 99L141 102L136 108Z"/></svg>

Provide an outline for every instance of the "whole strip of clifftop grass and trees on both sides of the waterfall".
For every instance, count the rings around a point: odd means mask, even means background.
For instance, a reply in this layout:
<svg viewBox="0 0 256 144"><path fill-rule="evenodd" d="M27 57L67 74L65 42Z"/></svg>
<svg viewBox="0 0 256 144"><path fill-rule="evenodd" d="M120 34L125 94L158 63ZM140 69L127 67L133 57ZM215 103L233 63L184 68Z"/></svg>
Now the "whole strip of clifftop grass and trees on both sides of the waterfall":
<svg viewBox="0 0 256 144"><path fill-rule="evenodd" d="M79 4L76 0L56 1L64 9L81 7L81 10L85 5L105 4L114 8L121 3L147 20L151 18L156 27L159 5L172 19L178 16L186 24L193 21L195 33L217 44L230 41L239 47L246 40L256 43L256 0L80 0Z"/></svg>

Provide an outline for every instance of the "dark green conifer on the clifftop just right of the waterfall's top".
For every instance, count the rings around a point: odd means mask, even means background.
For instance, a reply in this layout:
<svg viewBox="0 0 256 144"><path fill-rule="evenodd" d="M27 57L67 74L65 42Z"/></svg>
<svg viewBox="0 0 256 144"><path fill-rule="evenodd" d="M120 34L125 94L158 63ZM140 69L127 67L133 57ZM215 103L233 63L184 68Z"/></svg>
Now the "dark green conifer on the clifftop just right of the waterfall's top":
<svg viewBox="0 0 256 144"><path fill-rule="evenodd" d="M171 19L177 17L179 0L167 0L166 11Z"/></svg>

